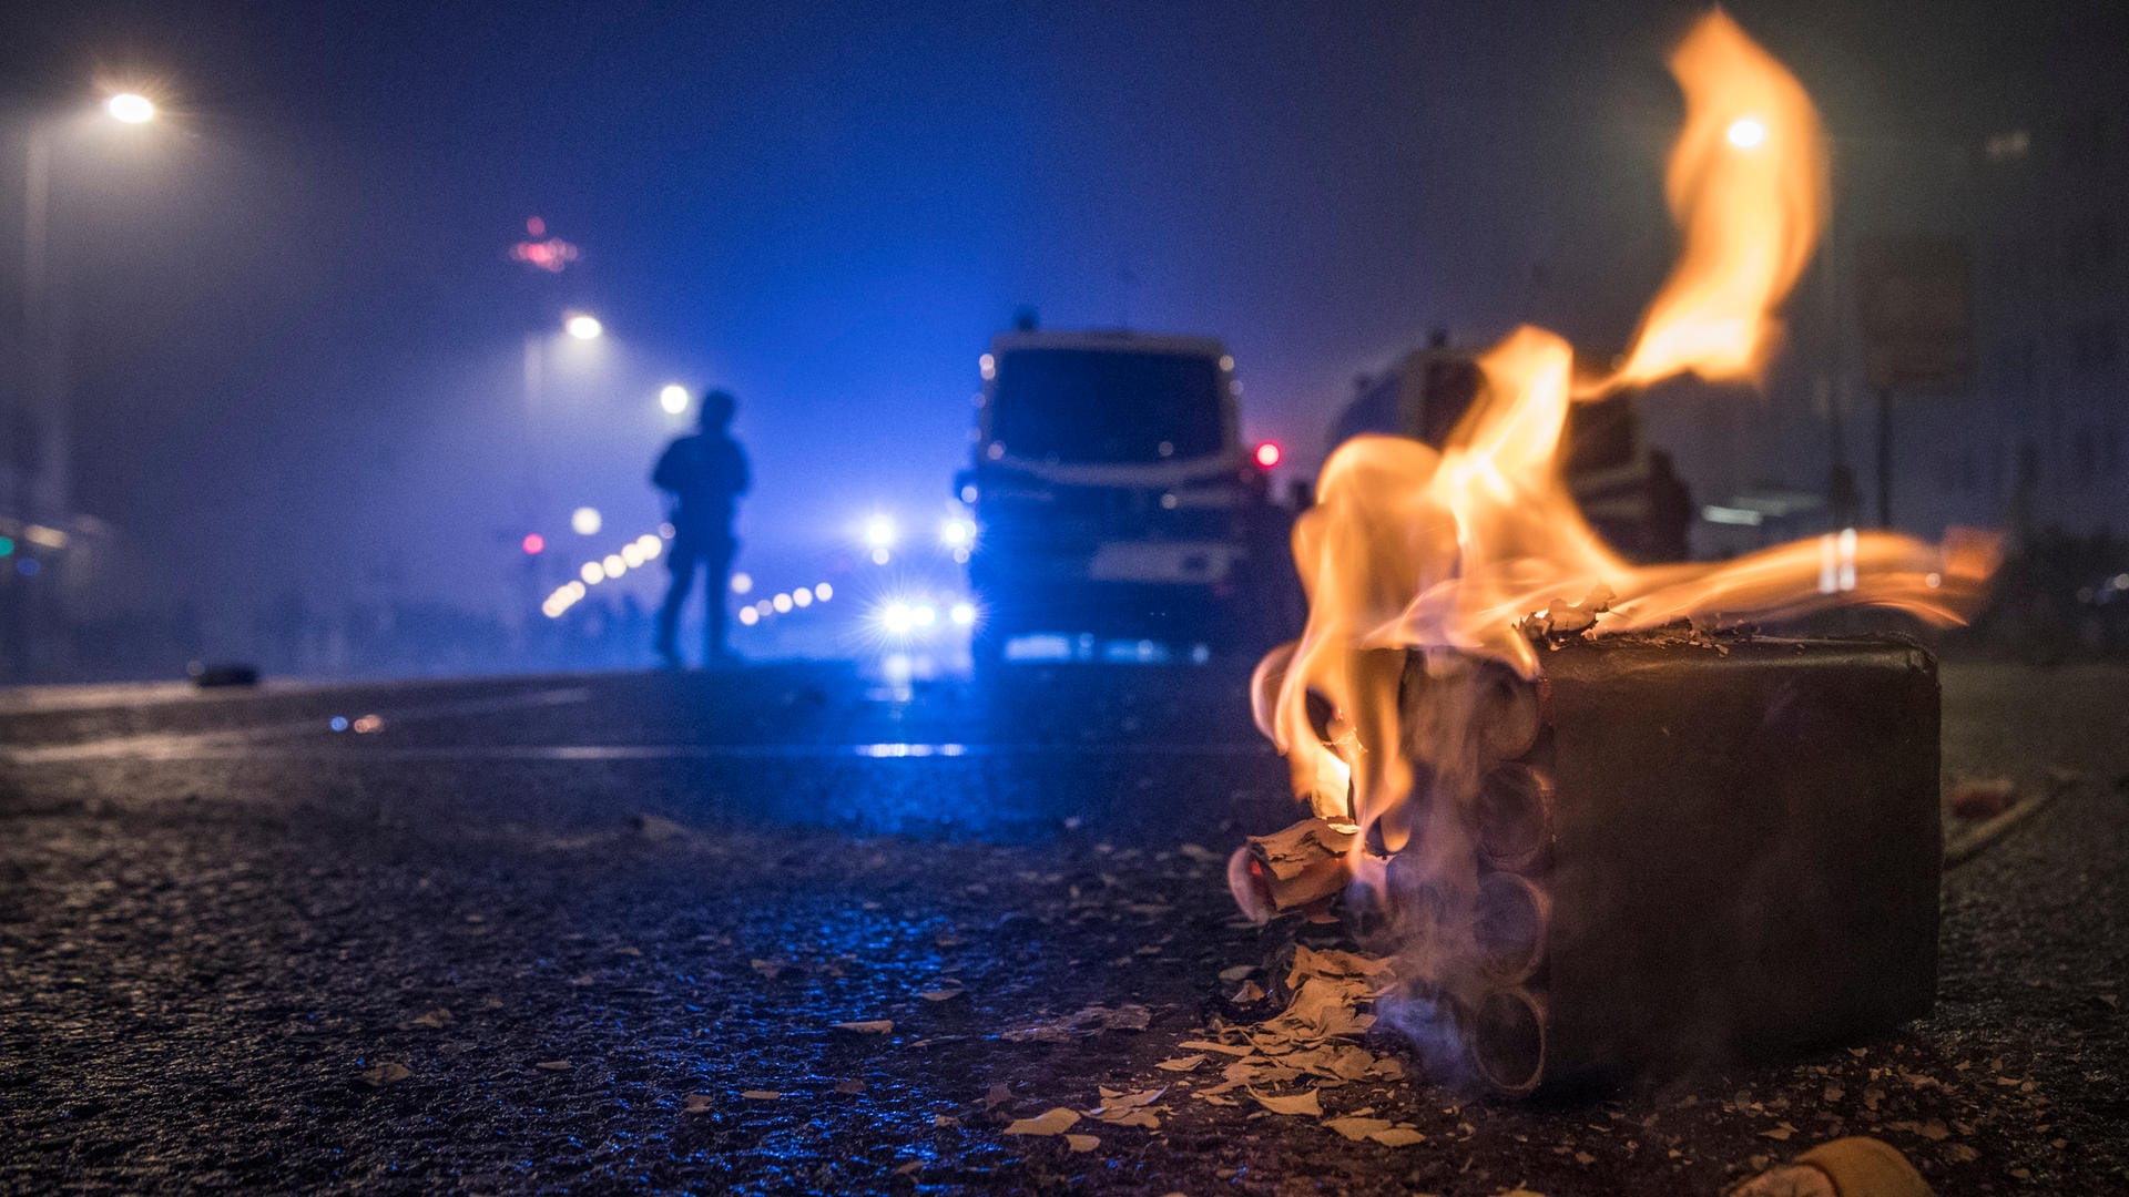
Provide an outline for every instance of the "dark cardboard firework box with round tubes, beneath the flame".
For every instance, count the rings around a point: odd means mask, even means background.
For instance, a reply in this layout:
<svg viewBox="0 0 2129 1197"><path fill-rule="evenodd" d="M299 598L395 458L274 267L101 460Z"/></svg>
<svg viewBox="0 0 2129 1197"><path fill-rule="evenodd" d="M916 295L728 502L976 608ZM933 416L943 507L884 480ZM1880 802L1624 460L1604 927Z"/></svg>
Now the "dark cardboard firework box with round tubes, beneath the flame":
<svg viewBox="0 0 2129 1197"><path fill-rule="evenodd" d="M1480 965L1446 988L1488 1086L1799 1050L1929 1012L1925 650L1622 635L1544 654L1531 682L1471 662L1443 679L1414 654L1399 703L1418 771L1439 765L1429 709L1473 673Z"/></svg>

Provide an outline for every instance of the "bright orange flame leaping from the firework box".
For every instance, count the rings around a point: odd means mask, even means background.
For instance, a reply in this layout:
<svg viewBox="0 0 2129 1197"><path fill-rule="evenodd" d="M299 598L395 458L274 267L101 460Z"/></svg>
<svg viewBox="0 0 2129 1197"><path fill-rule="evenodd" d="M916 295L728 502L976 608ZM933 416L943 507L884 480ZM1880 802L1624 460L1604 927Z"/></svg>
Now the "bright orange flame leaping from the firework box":
<svg viewBox="0 0 2129 1197"><path fill-rule="evenodd" d="M1399 437L1348 441L1294 526L1309 618L1297 643L1258 667L1258 726L1320 818L1377 826L1392 852L1409 835L1412 790L1397 750L1399 677L1365 650L1460 650L1535 675L1522 622L1601 607L1590 596L1610 601L1599 633L1852 603L1946 624L1993 569L1988 539L1948 552L1891 532L1633 567L1582 518L1561 469L1569 405L1684 371L1756 377L1778 339L1773 313L1822 224L1825 143L1797 81L1722 13L1693 28L1671 68L1686 94L1667 187L1684 245L1624 364L1575 386L1569 345L1520 328L1480 358L1480 396L1439 452ZM1326 726L1309 722L1311 692L1333 709Z"/></svg>

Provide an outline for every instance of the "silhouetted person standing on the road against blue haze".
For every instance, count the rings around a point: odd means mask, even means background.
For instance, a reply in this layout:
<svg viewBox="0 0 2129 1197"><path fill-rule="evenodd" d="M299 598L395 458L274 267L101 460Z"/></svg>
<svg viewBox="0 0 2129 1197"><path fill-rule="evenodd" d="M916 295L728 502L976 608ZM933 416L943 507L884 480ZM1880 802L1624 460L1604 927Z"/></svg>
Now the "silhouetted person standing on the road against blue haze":
<svg viewBox="0 0 2129 1197"><path fill-rule="evenodd" d="M726 611L724 592L730 590L732 554L739 539L732 535L732 511L739 496L747 492L747 454L730 434L737 400L728 392L713 390L703 396L700 424L694 437L679 437L658 458L651 471L651 486L673 496L673 543L666 547L666 569L673 571L673 586L658 607L658 656L671 667L679 667L679 650L673 633L679 624L679 609L694 588L694 571L707 571L707 660L717 665L730 660L724 645Z"/></svg>

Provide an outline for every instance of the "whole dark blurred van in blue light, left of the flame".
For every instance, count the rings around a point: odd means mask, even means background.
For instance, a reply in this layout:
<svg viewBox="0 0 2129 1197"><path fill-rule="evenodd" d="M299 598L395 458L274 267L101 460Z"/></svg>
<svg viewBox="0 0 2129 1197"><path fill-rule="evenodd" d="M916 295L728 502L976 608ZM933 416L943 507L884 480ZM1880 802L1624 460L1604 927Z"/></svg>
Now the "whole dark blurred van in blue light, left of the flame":
<svg viewBox="0 0 2129 1197"><path fill-rule="evenodd" d="M979 665L1028 633L1237 639L1269 503L1233 373L1205 337L1018 330L990 343L975 460L956 479L977 526Z"/></svg>

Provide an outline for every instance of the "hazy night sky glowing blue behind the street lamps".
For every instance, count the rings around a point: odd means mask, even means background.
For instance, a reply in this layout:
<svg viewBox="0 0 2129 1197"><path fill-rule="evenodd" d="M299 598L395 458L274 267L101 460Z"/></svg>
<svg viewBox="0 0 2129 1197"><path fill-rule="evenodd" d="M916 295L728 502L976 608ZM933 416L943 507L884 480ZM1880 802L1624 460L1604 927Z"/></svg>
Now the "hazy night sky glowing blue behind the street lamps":
<svg viewBox="0 0 2129 1197"><path fill-rule="evenodd" d="M1733 13L1837 134L1969 136L2082 28L2006 9ZM573 307L611 337L547 375L547 530L656 524L656 388L720 383L762 554L939 511L1018 305L1224 337L1245 434L1303 471L1431 326L1620 343L1669 262L1693 13L17 2L0 260L23 119L147 79L170 121L68 132L55 168L81 505L211 620L292 588L500 611L522 347ZM511 262L530 215L583 260Z"/></svg>

